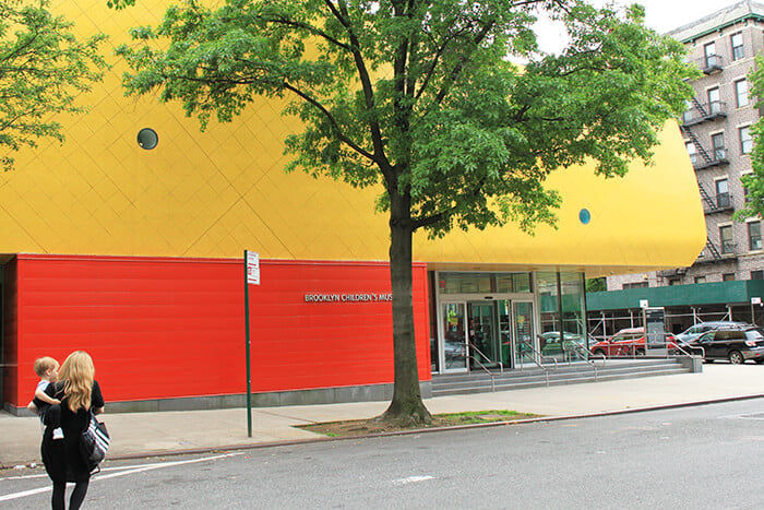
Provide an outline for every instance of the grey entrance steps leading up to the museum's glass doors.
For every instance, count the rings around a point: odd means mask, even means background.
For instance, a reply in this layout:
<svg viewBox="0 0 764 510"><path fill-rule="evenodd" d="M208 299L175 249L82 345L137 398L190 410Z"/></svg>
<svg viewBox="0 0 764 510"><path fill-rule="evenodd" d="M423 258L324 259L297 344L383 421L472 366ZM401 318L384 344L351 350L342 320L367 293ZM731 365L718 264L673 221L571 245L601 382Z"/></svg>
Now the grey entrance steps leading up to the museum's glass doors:
<svg viewBox="0 0 764 510"><path fill-rule="evenodd" d="M608 359L595 361L595 370L590 364L578 361L560 364L557 368L551 365L548 370L549 386L578 384L582 382L601 382L617 379L637 377L672 376L692 373L692 367L678 358L640 358L640 359ZM547 386L545 370L536 365L526 365L522 370L491 370L491 376L478 369L469 373L450 373L432 376L432 396L461 395L469 393L487 393L491 391L521 390Z"/></svg>

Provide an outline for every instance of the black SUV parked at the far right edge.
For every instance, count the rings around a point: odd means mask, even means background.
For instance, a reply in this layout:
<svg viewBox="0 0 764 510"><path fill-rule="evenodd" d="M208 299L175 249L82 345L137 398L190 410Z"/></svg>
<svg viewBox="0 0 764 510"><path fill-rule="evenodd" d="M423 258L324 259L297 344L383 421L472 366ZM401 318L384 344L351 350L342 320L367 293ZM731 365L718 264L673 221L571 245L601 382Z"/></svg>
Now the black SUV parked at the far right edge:
<svg viewBox="0 0 764 510"><path fill-rule="evenodd" d="M755 325L708 331L690 342L690 346L703 347L703 358L708 363L716 359L729 359L733 365L748 359L764 363L764 330Z"/></svg>

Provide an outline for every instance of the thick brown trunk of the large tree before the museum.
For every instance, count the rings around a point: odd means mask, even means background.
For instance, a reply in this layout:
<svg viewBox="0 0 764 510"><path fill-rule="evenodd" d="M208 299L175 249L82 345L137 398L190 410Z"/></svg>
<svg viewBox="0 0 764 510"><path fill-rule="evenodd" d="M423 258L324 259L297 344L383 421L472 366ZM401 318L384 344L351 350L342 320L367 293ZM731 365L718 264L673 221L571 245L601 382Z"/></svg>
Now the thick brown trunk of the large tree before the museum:
<svg viewBox="0 0 764 510"><path fill-rule="evenodd" d="M430 423L431 416L421 400L414 335L410 202L399 195L391 197L390 234L395 384L390 407L380 418L416 426Z"/></svg>

